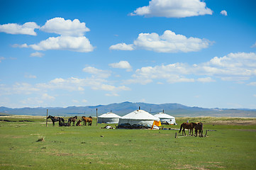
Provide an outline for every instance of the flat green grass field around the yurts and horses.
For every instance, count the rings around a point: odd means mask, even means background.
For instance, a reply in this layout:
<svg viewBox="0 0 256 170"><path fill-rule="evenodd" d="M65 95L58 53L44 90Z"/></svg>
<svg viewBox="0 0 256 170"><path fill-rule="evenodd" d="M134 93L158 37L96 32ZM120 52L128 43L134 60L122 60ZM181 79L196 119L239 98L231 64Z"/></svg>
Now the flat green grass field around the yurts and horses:
<svg viewBox="0 0 256 170"><path fill-rule="evenodd" d="M177 118L201 121L207 137L178 130L106 130L45 127L38 117L1 118L0 169L255 169L256 119ZM32 120L33 122L17 122ZM16 122L14 122L16 121ZM250 122L250 123L248 123ZM254 123L252 123L254 122ZM230 125L228 125L230 124ZM164 125L179 128L179 125ZM112 125L114 127L114 125ZM44 141L37 142L43 139Z"/></svg>

